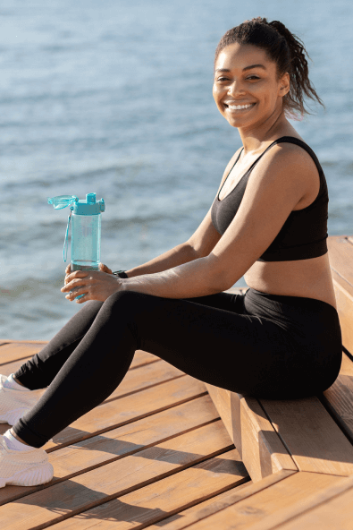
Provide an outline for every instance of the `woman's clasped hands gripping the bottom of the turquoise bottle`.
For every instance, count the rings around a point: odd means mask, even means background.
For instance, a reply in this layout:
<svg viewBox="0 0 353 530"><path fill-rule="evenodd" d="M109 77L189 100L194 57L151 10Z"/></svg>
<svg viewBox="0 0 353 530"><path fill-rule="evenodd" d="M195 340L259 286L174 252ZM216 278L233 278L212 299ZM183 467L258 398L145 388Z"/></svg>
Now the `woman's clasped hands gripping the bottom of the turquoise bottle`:
<svg viewBox="0 0 353 530"><path fill-rule="evenodd" d="M67 272L64 279L62 293L68 292L65 296L68 300L75 300L76 303L85 303L88 300L105 300L113 293L119 291L122 287L122 278L113 276L112 270L103 263L99 263L99 270L74 270L66 267ZM105 272L106 271L106 272ZM69 291L74 290L73 293ZM79 299L76 296L83 295Z"/></svg>

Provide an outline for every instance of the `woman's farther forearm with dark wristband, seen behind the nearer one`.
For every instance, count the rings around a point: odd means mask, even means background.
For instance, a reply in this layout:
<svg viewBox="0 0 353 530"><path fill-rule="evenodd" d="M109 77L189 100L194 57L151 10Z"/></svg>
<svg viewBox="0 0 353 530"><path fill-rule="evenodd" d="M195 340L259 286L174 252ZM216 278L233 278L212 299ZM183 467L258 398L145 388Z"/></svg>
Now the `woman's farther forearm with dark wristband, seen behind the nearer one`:
<svg viewBox="0 0 353 530"><path fill-rule="evenodd" d="M182 263L188 263L189 261L196 260L198 254L188 243L178 244L170 251L164 252L160 256L157 256L151 261L147 261L139 267L134 267L126 271L129 278L141 276L145 274L154 274L155 272L161 272L166 269L172 269Z"/></svg>

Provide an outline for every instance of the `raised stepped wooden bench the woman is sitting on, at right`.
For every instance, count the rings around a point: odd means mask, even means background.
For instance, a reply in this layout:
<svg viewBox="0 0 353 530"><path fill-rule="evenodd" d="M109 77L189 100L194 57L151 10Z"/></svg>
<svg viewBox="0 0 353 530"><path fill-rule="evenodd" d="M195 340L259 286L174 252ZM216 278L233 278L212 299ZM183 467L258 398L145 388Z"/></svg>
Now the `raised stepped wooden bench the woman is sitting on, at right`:
<svg viewBox="0 0 353 530"><path fill-rule="evenodd" d="M275 401L206 385L253 484L164 530L353 528L353 237L329 238L342 329L340 375L324 394Z"/></svg>

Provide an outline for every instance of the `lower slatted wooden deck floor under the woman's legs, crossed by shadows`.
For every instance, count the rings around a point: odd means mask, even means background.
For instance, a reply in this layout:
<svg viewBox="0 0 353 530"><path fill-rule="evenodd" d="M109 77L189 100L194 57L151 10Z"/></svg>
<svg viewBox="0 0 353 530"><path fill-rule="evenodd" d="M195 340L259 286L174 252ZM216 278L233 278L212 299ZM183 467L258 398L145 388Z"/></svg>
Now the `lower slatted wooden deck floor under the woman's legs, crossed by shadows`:
<svg viewBox="0 0 353 530"><path fill-rule="evenodd" d="M0 341L0 372L43 344ZM205 385L142 351L105 403L45 449L53 481L1 489L1 530L156 528L250 480Z"/></svg>

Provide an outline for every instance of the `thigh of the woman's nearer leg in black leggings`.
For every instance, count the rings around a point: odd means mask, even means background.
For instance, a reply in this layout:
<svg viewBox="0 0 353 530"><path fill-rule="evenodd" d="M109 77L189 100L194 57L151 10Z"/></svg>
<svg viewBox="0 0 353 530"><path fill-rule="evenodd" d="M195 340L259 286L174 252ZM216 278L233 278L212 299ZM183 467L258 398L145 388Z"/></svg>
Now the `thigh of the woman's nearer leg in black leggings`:
<svg viewBox="0 0 353 530"><path fill-rule="evenodd" d="M139 349L182 372L241 394L264 394L283 380L290 342L273 322L193 299L124 295Z"/></svg>

